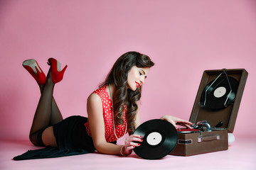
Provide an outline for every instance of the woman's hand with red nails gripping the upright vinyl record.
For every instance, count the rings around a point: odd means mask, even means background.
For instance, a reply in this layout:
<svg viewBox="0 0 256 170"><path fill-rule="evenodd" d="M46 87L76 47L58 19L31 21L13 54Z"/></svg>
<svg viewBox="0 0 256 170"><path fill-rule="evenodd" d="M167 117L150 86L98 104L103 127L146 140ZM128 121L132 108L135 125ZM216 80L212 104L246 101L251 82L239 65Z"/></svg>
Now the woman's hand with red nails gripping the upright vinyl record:
<svg viewBox="0 0 256 170"><path fill-rule="evenodd" d="M134 149L134 147L139 147L139 145L140 145L137 142L143 141L141 138L142 138L142 136L140 136L140 135L129 135L129 137L127 137L126 140L124 141L123 154L125 154L125 155L132 154L132 149Z"/></svg>

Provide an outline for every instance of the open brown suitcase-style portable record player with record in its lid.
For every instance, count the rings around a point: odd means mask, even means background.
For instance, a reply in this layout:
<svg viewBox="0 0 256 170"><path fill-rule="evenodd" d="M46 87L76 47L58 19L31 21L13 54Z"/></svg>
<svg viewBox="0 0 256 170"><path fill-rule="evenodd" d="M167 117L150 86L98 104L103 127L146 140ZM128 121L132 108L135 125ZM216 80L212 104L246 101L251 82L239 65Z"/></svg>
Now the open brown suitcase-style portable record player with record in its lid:
<svg viewBox="0 0 256 170"><path fill-rule="evenodd" d="M170 154L191 156L228 149L248 73L245 69L203 72L190 121L193 130L178 129L178 141Z"/></svg>

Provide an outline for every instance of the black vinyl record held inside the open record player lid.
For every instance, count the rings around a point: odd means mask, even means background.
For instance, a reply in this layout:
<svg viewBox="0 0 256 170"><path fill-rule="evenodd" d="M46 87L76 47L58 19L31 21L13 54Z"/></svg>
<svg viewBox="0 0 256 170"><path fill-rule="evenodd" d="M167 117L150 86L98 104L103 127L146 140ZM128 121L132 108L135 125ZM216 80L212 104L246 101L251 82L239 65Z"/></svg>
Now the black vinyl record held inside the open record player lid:
<svg viewBox="0 0 256 170"><path fill-rule="evenodd" d="M214 82L215 81L215 82ZM238 81L233 77L219 77L211 81L201 94L199 105L203 108L220 109L235 101Z"/></svg>

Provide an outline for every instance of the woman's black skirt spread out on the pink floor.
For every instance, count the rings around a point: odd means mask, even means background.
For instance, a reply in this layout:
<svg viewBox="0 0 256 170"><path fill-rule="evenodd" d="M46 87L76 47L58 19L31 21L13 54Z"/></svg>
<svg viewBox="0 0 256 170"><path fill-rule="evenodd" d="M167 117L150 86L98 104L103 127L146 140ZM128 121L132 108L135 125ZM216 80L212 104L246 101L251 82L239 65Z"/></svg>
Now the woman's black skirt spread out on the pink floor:
<svg viewBox="0 0 256 170"><path fill-rule="evenodd" d="M29 150L14 157L14 160L65 157L94 152L95 147L92 138L87 135L85 123L87 123L87 118L80 115L74 115L62 120L60 123L53 125L58 147L48 146L43 149Z"/></svg>

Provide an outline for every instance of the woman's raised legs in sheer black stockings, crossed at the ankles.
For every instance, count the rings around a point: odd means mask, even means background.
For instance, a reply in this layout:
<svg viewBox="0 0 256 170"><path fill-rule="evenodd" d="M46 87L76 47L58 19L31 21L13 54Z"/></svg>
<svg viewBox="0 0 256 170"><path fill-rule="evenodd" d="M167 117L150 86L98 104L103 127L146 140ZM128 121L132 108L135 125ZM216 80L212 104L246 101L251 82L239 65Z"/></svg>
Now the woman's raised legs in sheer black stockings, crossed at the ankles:
<svg viewBox="0 0 256 170"><path fill-rule="evenodd" d="M51 79L51 69L49 69L46 83L39 86L41 88L41 98L36 108L29 137L34 145L54 146L55 137L53 135L53 127L50 126L60 122L63 118L53 99L54 84Z"/></svg>

